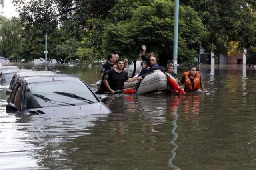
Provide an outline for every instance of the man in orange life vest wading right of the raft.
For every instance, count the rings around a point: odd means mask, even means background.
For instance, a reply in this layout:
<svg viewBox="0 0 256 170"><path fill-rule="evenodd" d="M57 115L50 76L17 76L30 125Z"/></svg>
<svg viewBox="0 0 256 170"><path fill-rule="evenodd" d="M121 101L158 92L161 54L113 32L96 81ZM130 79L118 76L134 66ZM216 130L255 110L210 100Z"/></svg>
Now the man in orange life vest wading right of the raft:
<svg viewBox="0 0 256 170"><path fill-rule="evenodd" d="M201 76L196 67L190 67L190 70L183 73L182 80L179 81L179 84L185 83L185 92L197 91L200 87L204 92L204 83L201 80Z"/></svg>

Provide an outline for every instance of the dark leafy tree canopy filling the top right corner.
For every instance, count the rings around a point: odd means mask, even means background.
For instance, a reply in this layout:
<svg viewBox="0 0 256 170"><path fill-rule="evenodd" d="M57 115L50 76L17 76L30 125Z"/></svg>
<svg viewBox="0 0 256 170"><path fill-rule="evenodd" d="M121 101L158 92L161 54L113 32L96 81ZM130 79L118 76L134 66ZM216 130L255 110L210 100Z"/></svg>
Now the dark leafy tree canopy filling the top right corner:
<svg viewBox="0 0 256 170"><path fill-rule="evenodd" d="M202 47L215 55L226 52L232 41L239 49L256 44L256 3L253 0L180 0L192 6L206 27Z"/></svg>

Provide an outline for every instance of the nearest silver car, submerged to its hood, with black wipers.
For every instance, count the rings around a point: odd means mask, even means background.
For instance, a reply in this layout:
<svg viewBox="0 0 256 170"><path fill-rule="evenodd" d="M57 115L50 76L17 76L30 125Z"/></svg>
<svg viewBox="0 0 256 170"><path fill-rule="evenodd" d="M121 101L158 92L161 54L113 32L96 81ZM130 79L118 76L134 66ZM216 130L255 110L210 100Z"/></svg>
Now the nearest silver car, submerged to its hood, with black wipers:
<svg viewBox="0 0 256 170"><path fill-rule="evenodd" d="M28 77L16 82L7 100L6 111L22 114L101 114L110 109L89 86L74 76Z"/></svg>

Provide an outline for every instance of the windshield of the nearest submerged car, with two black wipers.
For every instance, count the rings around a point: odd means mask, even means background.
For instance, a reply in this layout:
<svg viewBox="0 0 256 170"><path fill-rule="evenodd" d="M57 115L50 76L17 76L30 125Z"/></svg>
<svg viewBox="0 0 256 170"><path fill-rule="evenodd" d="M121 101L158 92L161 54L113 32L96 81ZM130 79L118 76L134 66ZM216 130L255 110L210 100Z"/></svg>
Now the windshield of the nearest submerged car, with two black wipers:
<svg viewBox="0 0 256 170"><path fill-rule="evenodd" d="M64 92L65 94L73 94L73 96L79 97L69 97L69 95L60 95L56 92ZM40 96L43 96L44 99ZM55 102L46 102L49 101L49 99ZM56 103L57 101L58 103ZM59 103L82 105L96 102L98 102L96 97L80 80L62 80L28 84L25 91L24 107L28 109L54 107L59 106Z"/></svg>

